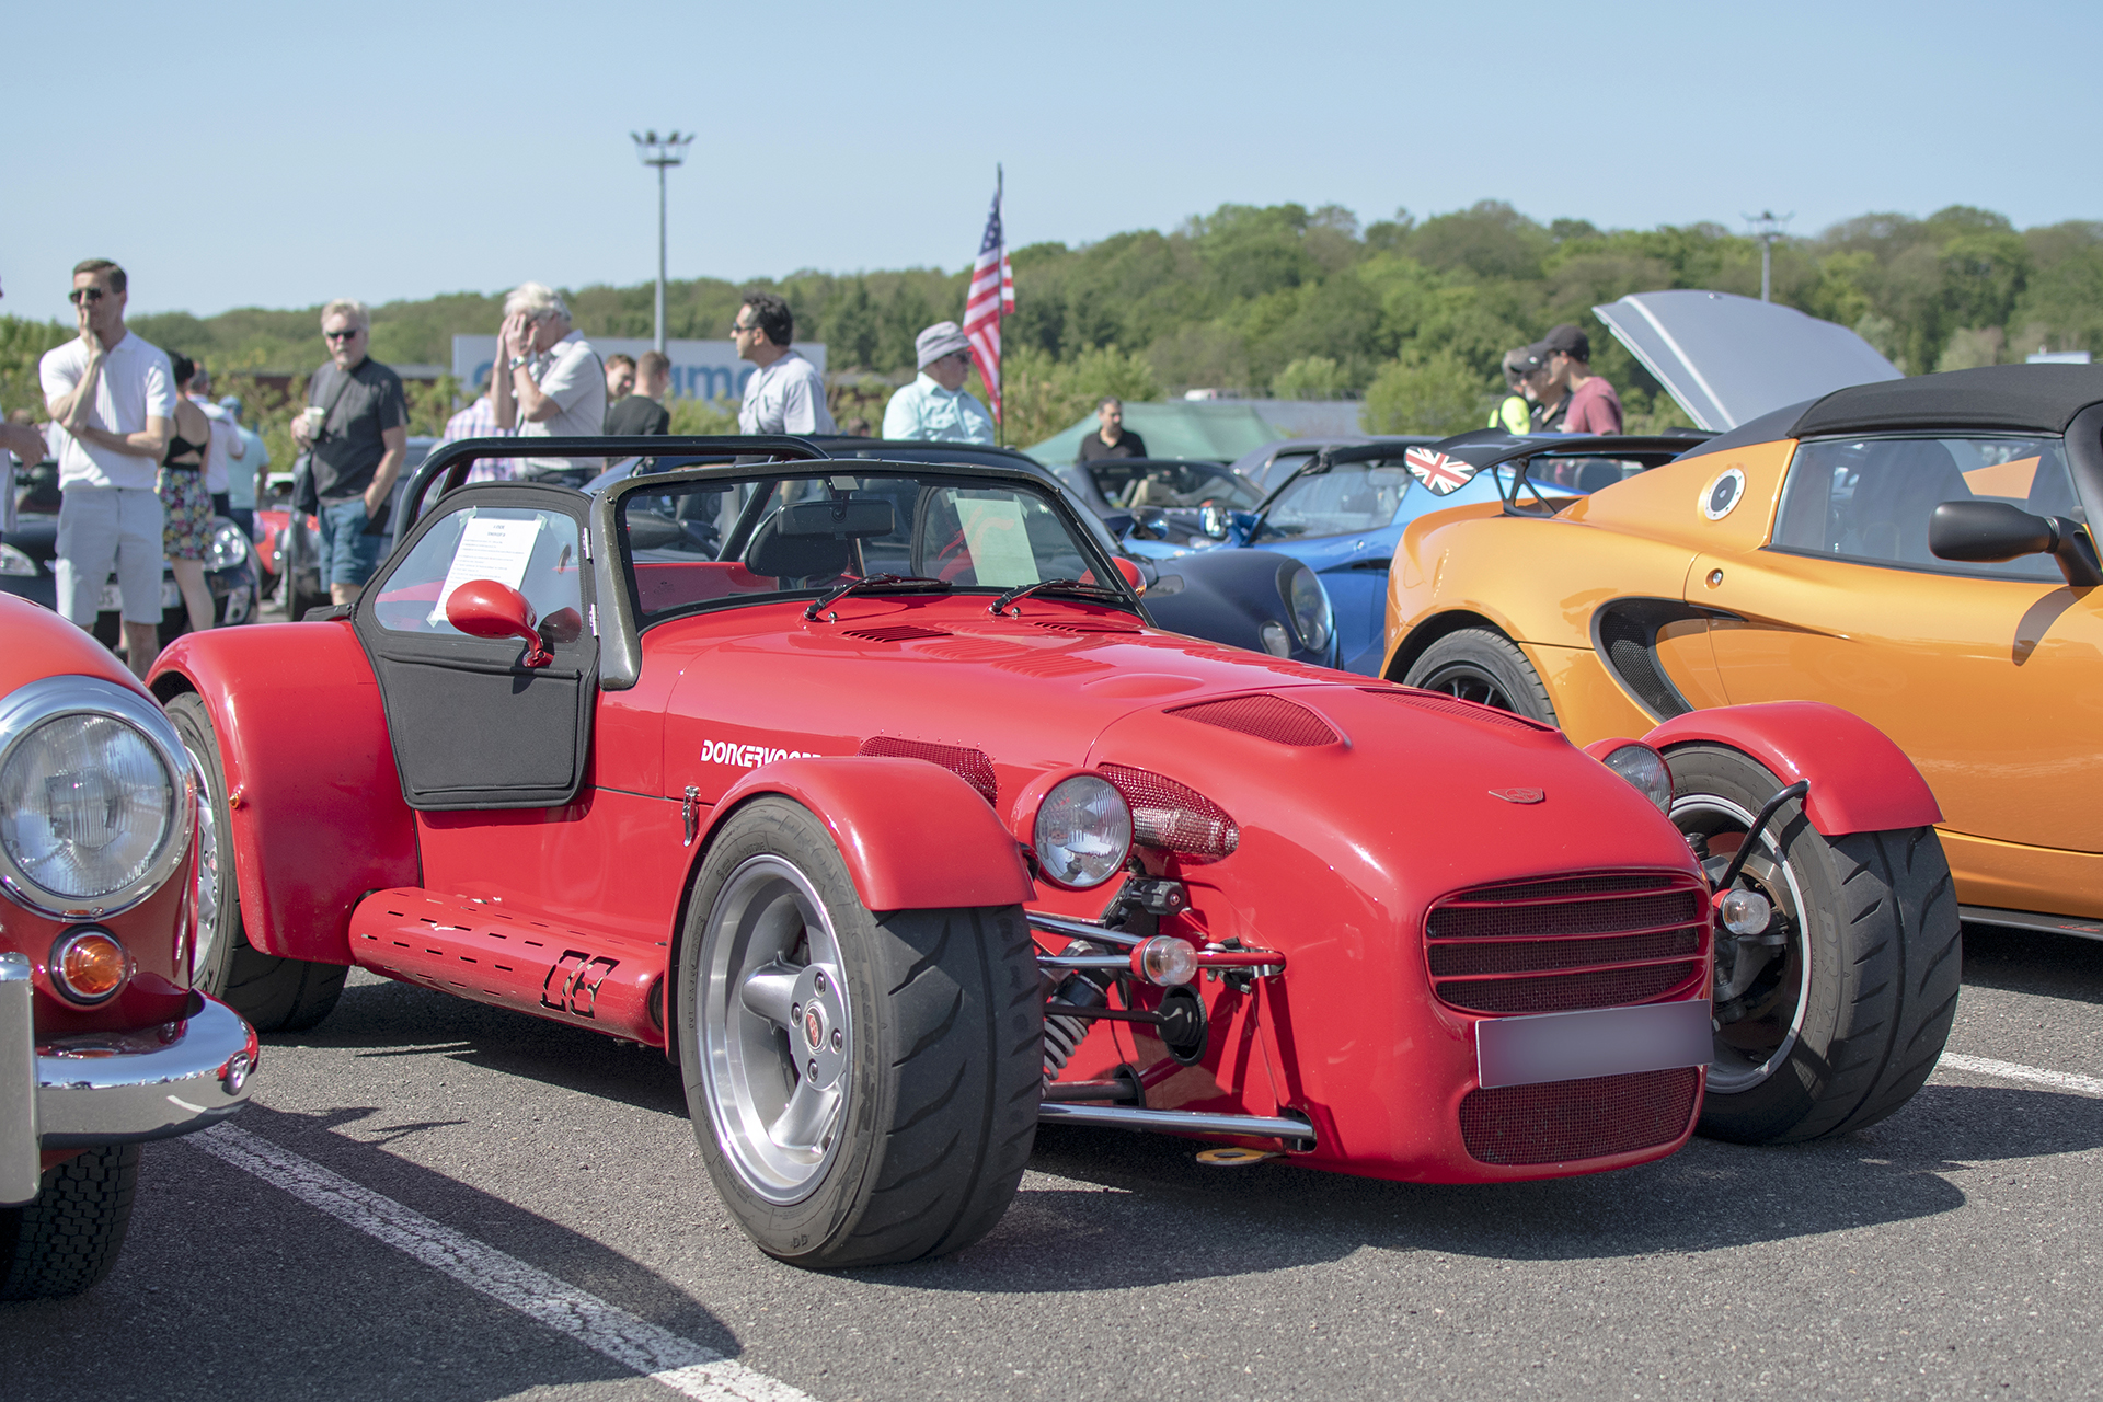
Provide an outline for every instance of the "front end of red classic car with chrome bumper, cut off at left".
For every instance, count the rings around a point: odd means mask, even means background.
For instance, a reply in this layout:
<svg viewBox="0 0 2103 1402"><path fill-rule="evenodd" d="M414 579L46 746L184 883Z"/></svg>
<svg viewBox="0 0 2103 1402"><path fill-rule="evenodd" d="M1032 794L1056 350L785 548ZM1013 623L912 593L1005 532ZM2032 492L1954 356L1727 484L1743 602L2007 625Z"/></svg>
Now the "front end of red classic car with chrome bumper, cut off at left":
<svg viewBox="0 0 2103 1402"><path fill-rule="evenodd" d="M0 1299L107 1274L137 1146L248 1099L257 1036L191 988L196 776L86 633L0 599Z"/></svg>

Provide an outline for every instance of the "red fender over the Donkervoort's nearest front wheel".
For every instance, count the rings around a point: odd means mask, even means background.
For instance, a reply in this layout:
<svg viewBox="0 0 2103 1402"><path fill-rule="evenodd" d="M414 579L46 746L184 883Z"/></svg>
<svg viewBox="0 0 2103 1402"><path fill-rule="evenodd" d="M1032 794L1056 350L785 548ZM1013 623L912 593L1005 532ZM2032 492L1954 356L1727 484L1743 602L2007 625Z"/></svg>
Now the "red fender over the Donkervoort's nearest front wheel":
<svg viewBox="0 0 2103 1402"><path fill-rule="evenodd" d="M709 830L763 792L816 813L871 910L1020 906L1037 893L978 790L923 759L776 759L730 786Z"/></svg>

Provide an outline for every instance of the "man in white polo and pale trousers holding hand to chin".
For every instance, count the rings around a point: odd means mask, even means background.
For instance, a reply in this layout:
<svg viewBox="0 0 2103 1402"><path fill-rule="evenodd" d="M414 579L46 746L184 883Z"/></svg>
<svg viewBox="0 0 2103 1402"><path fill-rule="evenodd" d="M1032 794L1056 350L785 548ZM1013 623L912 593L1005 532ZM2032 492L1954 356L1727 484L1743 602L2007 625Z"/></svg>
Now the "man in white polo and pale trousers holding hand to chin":
<svg viewBox="0 0 2103 1402"><path fill-rule="evenodd" d="M67 296L80 336L46 351L44 406L59 450L59 612L95 626L103 580L124 593L124 660L145 677L160 654L160 496L154 477L175 433L175 374L124 330L124 269L88 259Z"/></svg>

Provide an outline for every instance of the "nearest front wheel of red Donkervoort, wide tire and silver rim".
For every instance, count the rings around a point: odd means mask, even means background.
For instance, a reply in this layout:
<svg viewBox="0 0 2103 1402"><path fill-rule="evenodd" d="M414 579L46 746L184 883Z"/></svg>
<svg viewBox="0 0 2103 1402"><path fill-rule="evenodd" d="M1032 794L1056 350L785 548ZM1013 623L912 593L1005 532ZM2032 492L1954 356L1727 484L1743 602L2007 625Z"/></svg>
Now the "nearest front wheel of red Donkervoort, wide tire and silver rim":
<svg viewBox="0 0 2103 1402"><path fill-rule="evenodd" d="M709 1177L772 1257L969 1246L1037 1133L1043 994L1018 906L862 906L824 824L755 799L702 862L677 969Z"/></svg>

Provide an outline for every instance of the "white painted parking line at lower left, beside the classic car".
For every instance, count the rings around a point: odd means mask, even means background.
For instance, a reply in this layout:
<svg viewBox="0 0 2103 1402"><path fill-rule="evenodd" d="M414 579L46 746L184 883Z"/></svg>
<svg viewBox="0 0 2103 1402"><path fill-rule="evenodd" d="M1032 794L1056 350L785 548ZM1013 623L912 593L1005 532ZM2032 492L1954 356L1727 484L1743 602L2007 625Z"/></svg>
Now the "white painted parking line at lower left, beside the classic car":
<svg viewBox="0 0 2103 1402"><path fill-rule="evenodd" d="M191 1135L189 1143L673 1391L707 1402L812 1402L805 1391L658 1328L244 1129L217 1125Z"/></svg>

